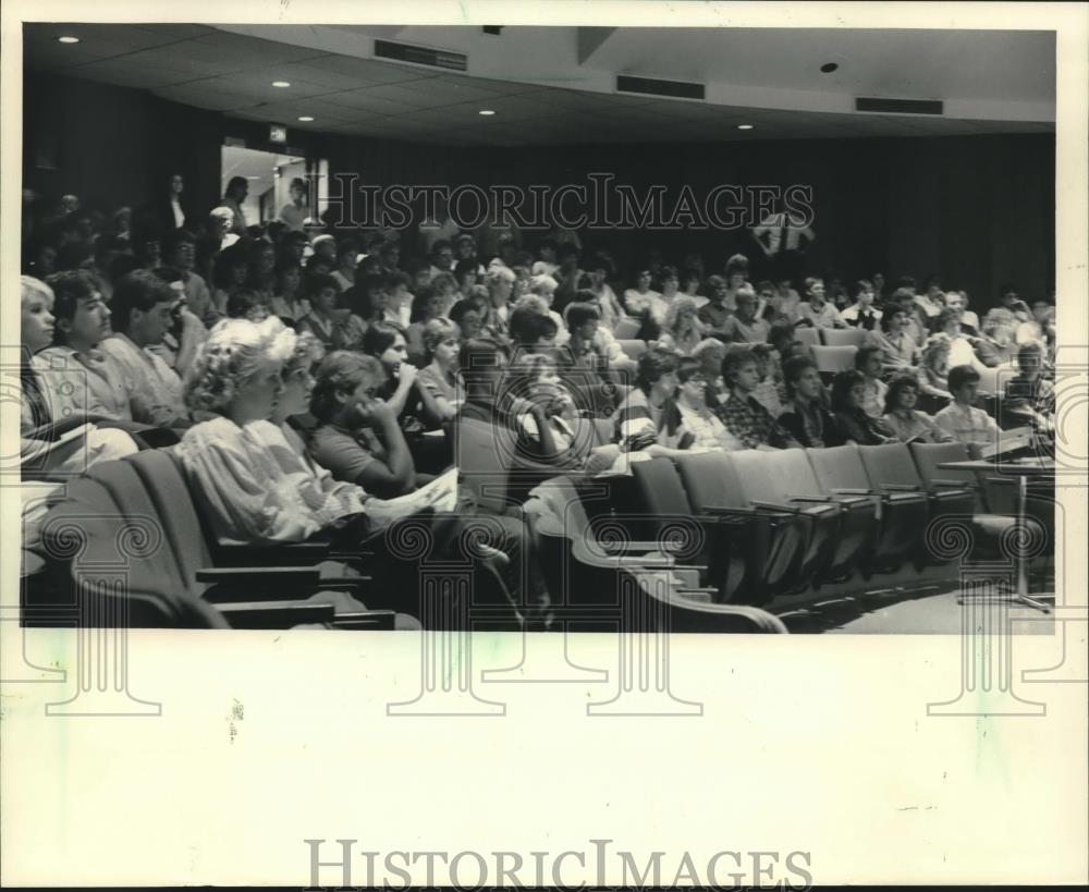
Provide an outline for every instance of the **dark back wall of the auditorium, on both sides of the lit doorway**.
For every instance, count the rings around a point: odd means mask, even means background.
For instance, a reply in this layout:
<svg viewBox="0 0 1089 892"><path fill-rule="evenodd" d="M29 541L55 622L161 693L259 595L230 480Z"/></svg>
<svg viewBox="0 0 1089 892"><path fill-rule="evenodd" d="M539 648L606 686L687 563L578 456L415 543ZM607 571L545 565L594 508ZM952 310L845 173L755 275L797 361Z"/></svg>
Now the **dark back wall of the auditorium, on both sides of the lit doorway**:
<svg viewBox="0 0 1089 892"><path fill-rule="evenodd" d="M267 143L265 123L34 74L24 82L24 134L25 185L51 199L73 192L106 209L145 200L174 170L185 175L194 207L208 209L220 194L224 137L284 148ZM333 174L378 185L559 186L607 172L637 192L662 184L674 201L684 184L700 199L719 184L807 185L817 241L805 271L835 269L845 280L878 270L890 280L938 272L977 307L1004 282L1036 296L1054 281L1052 135L455 149L289 131L287 142L327 158ZM745 231L613 230L585 241L610 247L625 269L650 247L676 260L700 251L709 269L735 251L759 256Z"/></svg>

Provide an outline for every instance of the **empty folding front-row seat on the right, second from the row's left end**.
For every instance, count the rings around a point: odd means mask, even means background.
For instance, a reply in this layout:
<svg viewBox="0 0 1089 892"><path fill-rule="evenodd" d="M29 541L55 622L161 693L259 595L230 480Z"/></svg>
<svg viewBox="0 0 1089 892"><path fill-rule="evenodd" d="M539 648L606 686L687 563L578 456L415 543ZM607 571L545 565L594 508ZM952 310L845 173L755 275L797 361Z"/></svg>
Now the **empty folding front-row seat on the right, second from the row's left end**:
<svg viewBox="0 0 1089 892"><path fill-rule="evenodd" d="M809 579L799 571L808 548L809 523L799 512L750 504L727 453L694 453L673 461L696 513L749 517L751 539L745 550L742 584L747 601L763 603L808 585Z"/></svg>

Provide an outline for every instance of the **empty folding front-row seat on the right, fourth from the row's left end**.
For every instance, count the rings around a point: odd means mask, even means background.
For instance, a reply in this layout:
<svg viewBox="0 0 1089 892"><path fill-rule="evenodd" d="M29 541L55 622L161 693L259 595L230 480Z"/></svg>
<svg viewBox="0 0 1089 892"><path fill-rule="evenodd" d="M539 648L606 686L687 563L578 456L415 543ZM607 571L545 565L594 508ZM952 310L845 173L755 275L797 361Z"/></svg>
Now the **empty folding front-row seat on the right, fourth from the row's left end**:
<svg viewBox="0 0 1089 892"><path fill-rule="evenodd" d="M807 449L806 453L821 489L829 496L862 496L877 510L877 528L862 562L866 572L896 570L909 554L918 553L927 528L926 493L891 491L870 486L858 447Z"/></svg>

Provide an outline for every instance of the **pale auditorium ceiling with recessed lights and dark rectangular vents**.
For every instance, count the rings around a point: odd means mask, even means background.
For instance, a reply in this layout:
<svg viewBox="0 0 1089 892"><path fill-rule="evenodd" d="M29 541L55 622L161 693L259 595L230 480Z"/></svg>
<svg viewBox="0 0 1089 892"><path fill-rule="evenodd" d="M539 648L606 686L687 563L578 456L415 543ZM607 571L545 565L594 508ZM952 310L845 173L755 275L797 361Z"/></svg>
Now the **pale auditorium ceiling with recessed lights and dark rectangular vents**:
<svg viewBox="0 0 1089 892"><path fill-rule="evenodd" d="M148 89L233 118L444 145L1054 131L1048 33L604 28L587 44L578 32L27 23L24 60L30 71ZM81 42L59 44L61 34ZM473 76L360 58L372 54L375 36L467 51ZM840 71L821 75L824 61ZM616 95L617 72L699 80L708 101ZM277 80L291 87L272 87ZM856 114L847 111L856 95L942 98L956 117Z"/></svg>

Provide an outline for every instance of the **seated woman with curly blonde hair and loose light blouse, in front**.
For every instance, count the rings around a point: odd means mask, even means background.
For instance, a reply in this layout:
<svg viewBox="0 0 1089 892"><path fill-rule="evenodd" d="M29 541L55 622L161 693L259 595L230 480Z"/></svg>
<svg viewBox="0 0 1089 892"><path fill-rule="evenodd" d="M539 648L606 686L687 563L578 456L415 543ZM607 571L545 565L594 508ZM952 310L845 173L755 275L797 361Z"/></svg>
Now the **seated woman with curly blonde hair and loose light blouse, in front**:
<svg viewBox="0 0 1089 892"><path fill-rule="evenodd" d="M377 552L366 566L375 591L400 596L405 601L401 607L415 612L418 558L388 547L368 520L370 499L365 491L338 487L317 475L282 428L269 420L284 393L283 368L295 344L295 333L279 319L227 319L217 325L186 378L188 404L211 417L185 432L178 457L222 543L319 539L331 540L339 550ZM436 513L417 520L429 529L432 560L445 554L466 560L458 541L465 529L457 517ZM482 545L474 553L482 555L473 563L474 595L513 607L497 572L506 563L505 555Z"/></svg>

